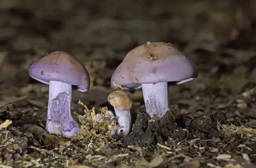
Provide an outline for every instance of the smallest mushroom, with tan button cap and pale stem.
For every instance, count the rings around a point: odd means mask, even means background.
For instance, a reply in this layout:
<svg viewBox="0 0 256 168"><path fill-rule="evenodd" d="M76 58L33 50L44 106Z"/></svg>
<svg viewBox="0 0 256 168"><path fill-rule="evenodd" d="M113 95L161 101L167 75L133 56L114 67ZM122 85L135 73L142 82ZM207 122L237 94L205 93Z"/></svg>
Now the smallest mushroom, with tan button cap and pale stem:
<svg viewBox="0 0 256 168"><path fill-rule="evenodd" d="M114 107L117 126L120 127L116 130L119 136L126 136L131 129L131 113L130 109L132 101L130 96L125 91L113 91L108 95L108 102Z"/></svg>

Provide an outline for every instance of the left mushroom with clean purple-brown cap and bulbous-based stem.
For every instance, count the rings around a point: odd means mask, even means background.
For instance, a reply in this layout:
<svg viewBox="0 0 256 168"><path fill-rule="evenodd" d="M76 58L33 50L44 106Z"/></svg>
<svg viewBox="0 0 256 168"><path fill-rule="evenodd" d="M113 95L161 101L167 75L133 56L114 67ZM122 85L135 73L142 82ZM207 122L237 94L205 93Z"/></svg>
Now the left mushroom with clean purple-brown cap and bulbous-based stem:
<svg viewBox="0 0 256 168"><path fill-rule="evenodd" d="M71 116L72 89L87 91L90 77L75 57L55 51L41 57L29 67L29 76L49 85L46 131L64 137L78 135L81 127Z"/></svg>

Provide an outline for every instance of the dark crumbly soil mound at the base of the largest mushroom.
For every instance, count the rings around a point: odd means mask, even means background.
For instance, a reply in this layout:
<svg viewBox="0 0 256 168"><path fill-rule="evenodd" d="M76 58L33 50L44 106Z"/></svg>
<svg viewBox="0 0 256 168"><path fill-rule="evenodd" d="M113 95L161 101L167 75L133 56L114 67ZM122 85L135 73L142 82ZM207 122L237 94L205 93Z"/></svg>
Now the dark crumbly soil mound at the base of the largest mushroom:
<svg viewBox="0 0 256 168"><path fill-rule="evenodd" d="M211 139L213 137L223 138L218 131L218 123L227 124L223 112L216 111L202 117L182 116L177 118L176 122L168 120L172 116L171 112L161 118L150 122L150 117L146 113L138 114L137 120L133 125L132 133L123 137L122 141L129 144L155 144L172 139Z"/></svg>

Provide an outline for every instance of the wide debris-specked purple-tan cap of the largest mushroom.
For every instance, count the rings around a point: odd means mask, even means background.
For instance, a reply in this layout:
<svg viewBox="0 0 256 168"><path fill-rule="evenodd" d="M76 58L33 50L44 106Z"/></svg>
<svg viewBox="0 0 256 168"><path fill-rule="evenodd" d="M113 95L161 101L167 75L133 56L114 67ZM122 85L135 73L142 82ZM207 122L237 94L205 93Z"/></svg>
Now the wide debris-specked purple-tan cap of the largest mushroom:
<svg viewBox="0 0 256 168"><path fill-rule="evenodd" d="M125 56L111 77L123 89L138 89L141 84L168 82L178 85L195 79L195 64L170 43L150 43L138 46Z"/></svg>

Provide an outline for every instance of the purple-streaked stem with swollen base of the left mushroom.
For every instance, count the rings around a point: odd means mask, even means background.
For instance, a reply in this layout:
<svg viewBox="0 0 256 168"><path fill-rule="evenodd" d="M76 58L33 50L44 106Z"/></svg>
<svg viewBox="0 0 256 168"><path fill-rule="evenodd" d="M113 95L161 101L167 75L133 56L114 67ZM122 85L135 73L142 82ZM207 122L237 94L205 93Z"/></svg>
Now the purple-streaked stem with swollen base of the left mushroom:
<svg viewBox="0 0 256 168"><path fill-rule="evenodd" d="M64 137L78 135L81 127L71 116L72 85L49 82L49 101L45 130Z"/></svg>

